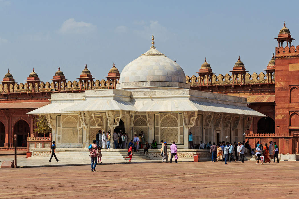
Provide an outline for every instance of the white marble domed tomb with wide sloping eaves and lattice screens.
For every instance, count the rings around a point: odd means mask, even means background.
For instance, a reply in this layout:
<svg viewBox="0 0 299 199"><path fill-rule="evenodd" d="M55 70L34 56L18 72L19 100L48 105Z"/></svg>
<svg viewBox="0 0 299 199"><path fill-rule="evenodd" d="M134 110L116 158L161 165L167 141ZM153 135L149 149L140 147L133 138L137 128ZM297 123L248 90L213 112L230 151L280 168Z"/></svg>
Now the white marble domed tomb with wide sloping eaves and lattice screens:
<svg viewBox="0 0 299 199"><path fill-rule="evenodd" d="M28 114L46 116L57 151L64 152L86 152L98 130L111 129L113 134L122 129L129 141L141 131L149 143L175 141L181 158L193 158L196 150L188 149L190 131L195 145L243 141L253 116L265 117L248 108L246 98L190 90L183 69L156 50L153 37L152 47L124 67L116 89L51 94L49 100L51 104ZM33 157L48 155L30 150ZM149 150L147 157L159 154L159 149Z"/></svg>

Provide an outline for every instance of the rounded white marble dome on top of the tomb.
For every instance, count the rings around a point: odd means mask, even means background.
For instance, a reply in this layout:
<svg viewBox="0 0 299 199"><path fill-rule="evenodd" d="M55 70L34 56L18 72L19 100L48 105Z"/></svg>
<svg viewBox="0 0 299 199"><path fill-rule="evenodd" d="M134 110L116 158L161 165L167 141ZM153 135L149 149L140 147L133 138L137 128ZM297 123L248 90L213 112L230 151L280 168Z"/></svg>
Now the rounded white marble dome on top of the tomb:
<svg viewBox="0 0 299 199"><path fill-rule="evenodd" d="M119 83L138 81L186 83L186 75L179 64L152 46L146 53L127 64L120 73Z"/></svg>

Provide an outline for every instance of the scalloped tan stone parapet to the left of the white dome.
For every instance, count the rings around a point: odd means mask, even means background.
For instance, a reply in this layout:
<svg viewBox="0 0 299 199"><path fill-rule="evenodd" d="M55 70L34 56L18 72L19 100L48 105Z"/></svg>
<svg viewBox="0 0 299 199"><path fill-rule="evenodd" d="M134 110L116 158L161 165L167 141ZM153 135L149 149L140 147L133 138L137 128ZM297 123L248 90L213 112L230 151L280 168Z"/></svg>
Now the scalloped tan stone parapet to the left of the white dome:
<svg viewBox="0 0 299 199"><path fill-rule="evenodd" d="M82 83L82 90L84 90L84 83ZM118 81L116 82L118 83ZM91 84L92 84L92 89L108 89L108 88L112 88L112 84L113 82L111 80L95 80L92 81L91 83L88 82L88 89L91 89ZM10 85L10 92L13 92L13 87L14 87L14 92L28 92L28 86L29 86L29 92L32 92L32 83L30 84L14 84L14 85ZM52 89L56 89L58 90L58 83L54 84L53 82L40 82L35 83L35 92L37 92L39 90L39 92L50 92ZM109 87L108 87L109 86ZM80 83L77 81L68 81L66 82L66 84L64 85L63 83L61 84L61 90L65 90L65 91L71 91L71 90L80 90ZM2 93L4 89L4 92L7 92L7 85L0 84L0 92Z"/></svg>

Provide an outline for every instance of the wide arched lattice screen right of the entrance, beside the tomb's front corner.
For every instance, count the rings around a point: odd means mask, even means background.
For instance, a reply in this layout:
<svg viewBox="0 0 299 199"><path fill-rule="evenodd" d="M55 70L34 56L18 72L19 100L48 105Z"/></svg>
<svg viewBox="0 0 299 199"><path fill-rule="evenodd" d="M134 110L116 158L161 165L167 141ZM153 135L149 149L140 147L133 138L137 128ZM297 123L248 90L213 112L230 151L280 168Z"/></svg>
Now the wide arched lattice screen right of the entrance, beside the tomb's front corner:
<svg viewBox="0 0 299 199"><path fill-rule="evenodd" d="M181 113L155 114L155 140L184 144L184 127Z"/></svg>

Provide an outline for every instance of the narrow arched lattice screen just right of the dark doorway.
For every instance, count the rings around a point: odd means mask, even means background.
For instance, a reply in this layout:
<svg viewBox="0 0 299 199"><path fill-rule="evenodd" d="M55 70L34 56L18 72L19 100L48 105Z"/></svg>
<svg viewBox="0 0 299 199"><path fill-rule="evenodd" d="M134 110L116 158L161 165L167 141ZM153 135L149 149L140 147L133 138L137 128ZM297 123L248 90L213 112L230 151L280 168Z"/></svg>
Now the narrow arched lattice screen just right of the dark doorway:
<svg viewBox="0 0 299 199"><path fill-rule="evenodd" d="M135 115L134 118L134 127L133 127L133 134L141 134L141 131L143 131L145 135L145 141L148 141L151 143L152 141L148 140L148 127L147 127L147 116L146 115ZM156 140L158 143L158 140Z"/></svg>

